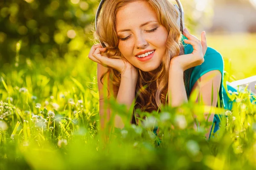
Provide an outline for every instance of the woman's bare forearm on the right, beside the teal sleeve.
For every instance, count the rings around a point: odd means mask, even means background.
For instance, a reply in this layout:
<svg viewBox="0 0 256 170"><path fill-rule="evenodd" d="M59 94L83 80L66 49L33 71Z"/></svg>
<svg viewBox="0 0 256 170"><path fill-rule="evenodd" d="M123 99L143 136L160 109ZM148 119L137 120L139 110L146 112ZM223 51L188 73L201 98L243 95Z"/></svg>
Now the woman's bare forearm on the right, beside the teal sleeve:
<svg viewBox="0 0 256 170"><path fill-rule="evenodd" d="M183 70L176 65L170 65L168 101L172 107L180 106L183 102L188 101L183 80Z"/></svg>

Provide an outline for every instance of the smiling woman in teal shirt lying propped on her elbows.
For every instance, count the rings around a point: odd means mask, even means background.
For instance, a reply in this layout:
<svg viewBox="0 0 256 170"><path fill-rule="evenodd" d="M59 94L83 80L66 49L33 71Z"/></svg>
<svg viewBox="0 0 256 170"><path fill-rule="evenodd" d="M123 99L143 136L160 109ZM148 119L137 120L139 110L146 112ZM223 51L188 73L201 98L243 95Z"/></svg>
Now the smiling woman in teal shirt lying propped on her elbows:
<svg viewBox="0 0 256 170"><path fill-rule="evenodd" d="M117 102L130 107L138 95L135 108L148 112L166 100L172 107L180 106L196 88L205 105L215 107L218 93L224 100L221 55L207 48L205 31L201 40L186 28L180 34L177 11L168 0L106 0L101 11L95 34L106 48L93 45L89 58L98 63L102 128L106 122L103 77L108 80L108 90L113 91L109 97L113 95ZM148 87L143 88L145 85ZM111 111L107 113L109 119ZM209 121L218 123L218 116L212 113ZM124 127L119 116L115 126Z"/></svg>

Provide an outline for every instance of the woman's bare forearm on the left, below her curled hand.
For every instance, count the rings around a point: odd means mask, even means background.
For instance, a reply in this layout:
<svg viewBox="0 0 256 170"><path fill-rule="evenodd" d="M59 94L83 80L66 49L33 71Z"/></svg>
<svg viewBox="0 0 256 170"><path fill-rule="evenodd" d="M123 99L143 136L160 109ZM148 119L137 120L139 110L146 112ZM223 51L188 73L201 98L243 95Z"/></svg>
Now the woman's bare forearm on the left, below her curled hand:
<svg viewBox="0 0 256 170"><path fill-rule="evenodd" d="M119 91L116 97L116 102L125 104L129 109L135 99L135 89L138 79L138 73L136 70L127 69L121 74L121 82ZM124 123L120 116L115 116L115 127L123 128Z"/></svg>

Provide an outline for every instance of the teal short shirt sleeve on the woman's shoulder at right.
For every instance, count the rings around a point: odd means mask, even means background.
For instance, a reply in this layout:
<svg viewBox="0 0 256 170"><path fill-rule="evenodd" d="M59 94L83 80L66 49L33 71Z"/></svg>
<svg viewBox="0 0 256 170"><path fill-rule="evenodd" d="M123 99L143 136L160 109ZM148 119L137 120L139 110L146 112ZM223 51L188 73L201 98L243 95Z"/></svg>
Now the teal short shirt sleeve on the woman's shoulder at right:
<svg viewBox="0 0 256 170"><path fill-rule="evenodd" d="M224 73L224 61L221 54L213 48L208 47L206 54L204 55L204 62L201 65L195 66L190 77L190 91L192 90L195 82L204 74L212 70L218 70L221 72L223 79Z"/></svg>

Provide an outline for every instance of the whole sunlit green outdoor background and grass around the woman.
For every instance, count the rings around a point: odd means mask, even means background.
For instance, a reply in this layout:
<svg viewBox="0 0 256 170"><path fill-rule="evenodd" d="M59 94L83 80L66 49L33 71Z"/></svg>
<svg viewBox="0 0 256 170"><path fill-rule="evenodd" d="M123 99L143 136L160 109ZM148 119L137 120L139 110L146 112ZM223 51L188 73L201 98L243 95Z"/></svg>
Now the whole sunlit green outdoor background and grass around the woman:
<svg viewBox="0 0 256 170"><path fill-rule="evenodd" d="M256 75L256 0L180 1L186 27L199 39L207 32L232 80ZM140 114L138 126L124 119L129 126L109 133L105 145L98 135L97 65L88 58L98 5L0 0L0 170L255 169L256 107L246 93L230 95L237 102L232 111L215 110L224 119L210 141L203 138L207 108L198 108L194 96L182 114L150 113L145 122ZM111 106L127 115L122 105ZM192 113L202 121L197 130L189 128ZM159 150L155 122L165 134Z"/></svg>

